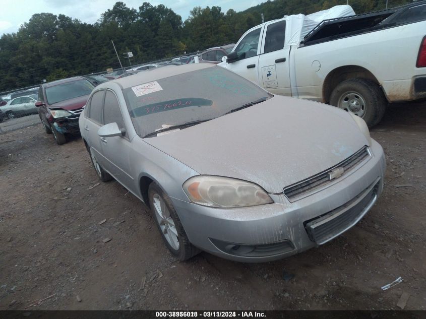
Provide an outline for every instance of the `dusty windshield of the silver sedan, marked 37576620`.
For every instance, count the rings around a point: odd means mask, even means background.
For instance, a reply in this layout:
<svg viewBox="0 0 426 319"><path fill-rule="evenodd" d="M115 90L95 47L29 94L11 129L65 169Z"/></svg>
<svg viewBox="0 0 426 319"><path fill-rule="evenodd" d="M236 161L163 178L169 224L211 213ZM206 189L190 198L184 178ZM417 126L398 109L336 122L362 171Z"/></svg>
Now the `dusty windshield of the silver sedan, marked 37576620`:
<svg viewBox="0 0 426 319"><path fill-rule="evenodd" d="M141 83L124 89L123 93L140 137L168 126L213 119L272 96L252 82L219 67Z"/></svg>

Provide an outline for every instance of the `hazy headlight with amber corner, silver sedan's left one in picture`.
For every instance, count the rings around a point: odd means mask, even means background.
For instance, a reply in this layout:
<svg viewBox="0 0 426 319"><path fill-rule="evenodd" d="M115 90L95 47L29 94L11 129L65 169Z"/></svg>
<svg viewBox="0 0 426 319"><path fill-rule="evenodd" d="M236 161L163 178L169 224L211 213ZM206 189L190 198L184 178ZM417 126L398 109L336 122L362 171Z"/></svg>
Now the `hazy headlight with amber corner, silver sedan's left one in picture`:
<svg viewBox="0 0 426 319"><path fill-rule="evenodd" d="M209 207L248 207L274 202L259 185L228 177L194 176L182 187L191 202Z"/></svg>

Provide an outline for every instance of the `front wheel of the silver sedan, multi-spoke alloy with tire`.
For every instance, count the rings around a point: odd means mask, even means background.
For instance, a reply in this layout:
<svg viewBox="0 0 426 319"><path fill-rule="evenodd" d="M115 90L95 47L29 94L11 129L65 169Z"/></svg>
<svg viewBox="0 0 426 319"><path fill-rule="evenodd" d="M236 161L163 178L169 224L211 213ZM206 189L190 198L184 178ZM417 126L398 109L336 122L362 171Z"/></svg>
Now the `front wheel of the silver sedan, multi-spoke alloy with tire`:
<svg viewBox="0 0 426 319"><path fill-rule="evenodd" d="M200 249L188 239L170 198L155 182L148 187L148 199L161 237L173 256L186 261L199 253Z"/></svg>

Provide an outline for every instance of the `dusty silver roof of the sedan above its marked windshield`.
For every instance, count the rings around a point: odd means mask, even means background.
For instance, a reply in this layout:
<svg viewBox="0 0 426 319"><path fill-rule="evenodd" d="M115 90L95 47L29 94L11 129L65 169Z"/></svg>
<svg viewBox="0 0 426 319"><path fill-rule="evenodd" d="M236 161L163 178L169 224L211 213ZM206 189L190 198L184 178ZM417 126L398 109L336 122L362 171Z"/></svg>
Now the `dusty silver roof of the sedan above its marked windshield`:
<svg viewBox="0 0 426 319"><path fill-rule="evenodd" d="M111 80L100 84L98 88L108 88L112 83L116 83L123 89L127 89L139 84L149 83L160 79L172 77L179 74L184 74L192 71L202 70L206 68L215 68L215 65L210 63L193 63L182 66L169 66L167 68L158 68L150 70L149 72L139 72L131 77L124 77L121 79Z"/></svg>

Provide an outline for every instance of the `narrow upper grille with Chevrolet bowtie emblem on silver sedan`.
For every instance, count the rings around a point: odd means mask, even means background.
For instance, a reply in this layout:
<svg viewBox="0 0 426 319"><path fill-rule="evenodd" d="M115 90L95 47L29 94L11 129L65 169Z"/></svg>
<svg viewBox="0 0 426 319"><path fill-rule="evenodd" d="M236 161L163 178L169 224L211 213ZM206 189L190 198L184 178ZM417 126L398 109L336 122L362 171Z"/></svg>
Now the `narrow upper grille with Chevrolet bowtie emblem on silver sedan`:
<svg viewBox="0 0 426 319"><path fill-rule="evenodd" d="M288 198L289 201L295 201L297 199L300 199L310 194L315 189L318 189L319 187L322 187L328 183L331 183L334 180L334 177L331 178L330 175L333 173L334 169L341 170L341 168L343 168L343 172L339 176L335 177L335 178L339 178L341 176L346 175L352 168L357 166L360 162L362 162L367 157L370 157L370 153L369 153L368 147L364 146L355 154L351 155L350 157L340 162L339 164L327 169L326 171L321 172L318 175L309 177L308 179L302 180L287 188L284 188L283 193Z"/></svg>

